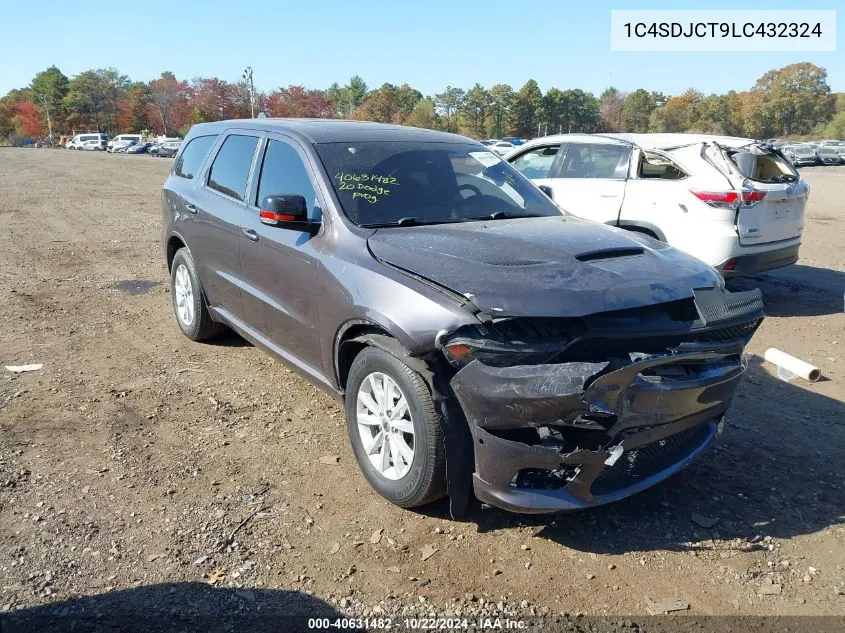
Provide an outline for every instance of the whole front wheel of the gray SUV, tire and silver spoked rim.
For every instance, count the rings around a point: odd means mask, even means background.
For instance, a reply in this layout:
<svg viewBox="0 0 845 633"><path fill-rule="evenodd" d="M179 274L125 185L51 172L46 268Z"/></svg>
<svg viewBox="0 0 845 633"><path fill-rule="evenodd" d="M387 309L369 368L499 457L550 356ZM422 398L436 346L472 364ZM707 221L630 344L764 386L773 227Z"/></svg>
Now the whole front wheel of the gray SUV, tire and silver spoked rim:
<svg viewBox="0 0 845 633"><path fill-rule="evenodd" d="M352 363L346 387L349 439L375 491L403 508L441 498L443 434L422 376L392 354L367 347Z"/></svg>

